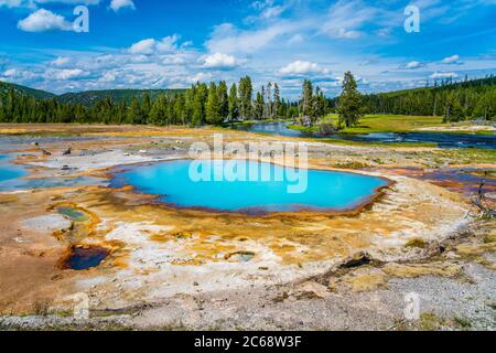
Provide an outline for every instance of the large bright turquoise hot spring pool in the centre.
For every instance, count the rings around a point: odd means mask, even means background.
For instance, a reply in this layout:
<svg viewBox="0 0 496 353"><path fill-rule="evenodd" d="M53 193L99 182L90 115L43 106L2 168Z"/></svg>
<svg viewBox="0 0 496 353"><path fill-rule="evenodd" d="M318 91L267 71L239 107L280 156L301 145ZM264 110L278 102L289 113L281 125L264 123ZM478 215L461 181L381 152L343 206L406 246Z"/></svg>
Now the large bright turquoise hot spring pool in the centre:
<svg viewBox="0 0 496 353"><path fill-rule="evenodd" d="M272 175L268 178L270 181L248 176L248 181L227 181L234 175L233 172L226 172L226 178L222 181L194 181L190 173L191 163L190 160L177 160L117 170L111 185L119 188L130 184L140 192L159 195L161 201L177 207L246 213L344 211L366 202L378 188L387 185L380 178L334 171L294 170L252 161L240 162L247 171L245 175L249 175L258 167L258 175L263 172L265 175ZM214 173L215 168L211 168L205 175L214 180ZM273 175L282 178L278 180Z"/></svg>

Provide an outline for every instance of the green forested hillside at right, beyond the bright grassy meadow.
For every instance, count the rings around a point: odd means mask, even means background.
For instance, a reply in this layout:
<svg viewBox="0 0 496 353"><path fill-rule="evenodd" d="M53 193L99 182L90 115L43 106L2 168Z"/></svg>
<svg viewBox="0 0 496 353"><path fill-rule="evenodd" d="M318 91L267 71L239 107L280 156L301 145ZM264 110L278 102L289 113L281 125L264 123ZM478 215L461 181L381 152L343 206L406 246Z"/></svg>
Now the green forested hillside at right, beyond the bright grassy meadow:
<svg viewBox="0 0 496 353"><path fill-rule="evenodd" d="M333 99L333 105L337 104ZM367 114L444 116L446 121L496 117L496 77L413 88L364 97Z"/></svg>

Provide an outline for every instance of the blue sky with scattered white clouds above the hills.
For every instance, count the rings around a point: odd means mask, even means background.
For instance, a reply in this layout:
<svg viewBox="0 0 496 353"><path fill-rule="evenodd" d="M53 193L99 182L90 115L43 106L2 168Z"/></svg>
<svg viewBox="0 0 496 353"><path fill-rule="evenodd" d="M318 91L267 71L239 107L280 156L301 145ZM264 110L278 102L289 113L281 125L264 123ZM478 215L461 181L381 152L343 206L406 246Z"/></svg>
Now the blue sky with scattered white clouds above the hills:
<svg viewBox="0 0 496 353"><path fill-rule="evenodd" d="M73 28L80 4L88 33ZM385 92L496 74L495 21L496 0L0 0L0 81L65 93L248 74L296 98L304 78L338 94L349 69Z"/></svg>

